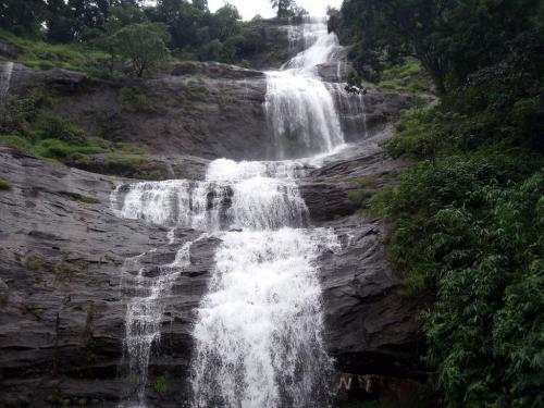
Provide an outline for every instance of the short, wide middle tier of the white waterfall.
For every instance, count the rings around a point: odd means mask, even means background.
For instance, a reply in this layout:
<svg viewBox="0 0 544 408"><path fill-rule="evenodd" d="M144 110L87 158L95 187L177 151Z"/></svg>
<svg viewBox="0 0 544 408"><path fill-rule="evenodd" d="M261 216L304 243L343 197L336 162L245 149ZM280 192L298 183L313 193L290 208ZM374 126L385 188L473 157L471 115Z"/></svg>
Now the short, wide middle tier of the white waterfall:
<svg viewBox="0 0 544 408"><path fill-rule="evenodd" d="M119 217L168 226L211 232L279 228L286 221L304 226L306 206L290 177L300 171L289 162L223 159L210 164L205 182L135 183L119 187L111 201Z"/></svg>

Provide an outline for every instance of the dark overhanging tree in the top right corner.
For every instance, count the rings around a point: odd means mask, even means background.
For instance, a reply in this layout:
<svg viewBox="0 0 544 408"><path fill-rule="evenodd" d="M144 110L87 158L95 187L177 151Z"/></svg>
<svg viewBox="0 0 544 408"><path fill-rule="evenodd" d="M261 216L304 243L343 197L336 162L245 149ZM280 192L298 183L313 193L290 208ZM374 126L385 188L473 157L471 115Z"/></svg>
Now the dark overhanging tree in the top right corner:
<svg viewBox="0 0 544 408"><path fill-rule="evenodd" d="M537 14L541 0L346 0L341 32L358 40L358 71L380 71L383 58L415 57L440 94L497 61L505 44ZM369 69L371 67L371 69Z"/></svg>

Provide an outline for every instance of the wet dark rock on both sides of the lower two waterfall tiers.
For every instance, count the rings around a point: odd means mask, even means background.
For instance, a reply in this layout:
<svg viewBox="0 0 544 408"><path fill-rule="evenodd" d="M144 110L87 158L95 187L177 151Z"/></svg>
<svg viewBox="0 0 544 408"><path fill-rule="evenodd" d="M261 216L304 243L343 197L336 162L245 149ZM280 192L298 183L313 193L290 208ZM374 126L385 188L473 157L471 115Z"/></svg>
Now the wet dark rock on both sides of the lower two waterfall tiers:
<svg viewBox="0 0 544 408"><path fill-rule="evenodd" d="M384 225L354 214L348 191L357 177L384 174L406 163L384 160L375 137L338 153L300 181L312 223L334 228L342 249L321 257L326 342L336 369L350 374L419 379L419 304L384 257ZM123 262L141 258L145 274L173 261L183 243L200 232L168 231L144 220L124 220L110 209L110 194L127 180L97 175L0 151L0 367L5 400L46 407L51 400L99 401L110 407L132 385L123 375L126 301ZM218 238L194 244L190 265L166 295L160 347L149 366L151 406L186 401L195 310L213 269ZM153 382L168 378L176 392Z"/></svg>

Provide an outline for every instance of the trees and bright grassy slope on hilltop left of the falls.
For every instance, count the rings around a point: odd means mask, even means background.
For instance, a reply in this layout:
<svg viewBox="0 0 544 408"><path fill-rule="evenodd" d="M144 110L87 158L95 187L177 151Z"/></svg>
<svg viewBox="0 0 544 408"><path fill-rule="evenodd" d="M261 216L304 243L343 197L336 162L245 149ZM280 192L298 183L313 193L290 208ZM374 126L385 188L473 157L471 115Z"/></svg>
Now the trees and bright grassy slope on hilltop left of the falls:
<svg viewBox="0 0 544 408"><path fill-rule="evenodd" d="M290 16L302 13L280 1ZM174 61L242 63L255 49L248 23L225 3L207 1L5 0L0 39L20 49L16 60L34 69L62 67L107 78L141 77ZM285 5L285 8L284 8ZM259 22L256 18L251 26ZM254 36L255 37L255 36Z"/></svg>

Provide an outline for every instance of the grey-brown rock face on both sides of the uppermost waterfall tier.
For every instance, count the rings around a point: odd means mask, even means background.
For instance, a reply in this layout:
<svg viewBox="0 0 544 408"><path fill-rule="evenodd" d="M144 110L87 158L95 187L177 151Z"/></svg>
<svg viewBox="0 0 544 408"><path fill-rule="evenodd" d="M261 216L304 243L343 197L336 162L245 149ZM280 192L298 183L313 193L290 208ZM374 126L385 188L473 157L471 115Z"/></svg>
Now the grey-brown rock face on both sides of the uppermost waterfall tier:
<svg viewBox="0 0 544 408"><path fill-rule="evenodd" d="M259 71L185 63L146 84L112 84L82 73L14 64L10 89L53 95L53 111L77 122L89 136L147 146L152 154L273 159L267 149L273 143L264 112L267 81ZM410 103L406 95L383 96L375 89L361 101L339 83L331 84L331 91L348 141L382 132ZM99 159L87 170L97 171Z"/></svg>

